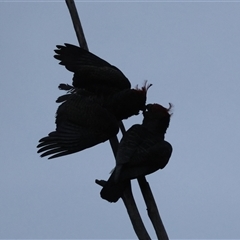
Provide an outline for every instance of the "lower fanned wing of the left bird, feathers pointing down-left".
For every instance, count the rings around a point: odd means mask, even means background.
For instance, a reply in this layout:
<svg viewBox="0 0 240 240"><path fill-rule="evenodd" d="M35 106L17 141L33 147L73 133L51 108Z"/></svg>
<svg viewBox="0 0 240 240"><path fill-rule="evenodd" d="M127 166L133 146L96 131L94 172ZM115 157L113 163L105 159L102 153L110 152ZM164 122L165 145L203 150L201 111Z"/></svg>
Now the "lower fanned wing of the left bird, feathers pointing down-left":
<svg viewBox="0 0 240 240"><path fill-rule="evenodd" d="M81 92L81 93L80 93ZM76 153L107 141L119 131L116 117L85 90L58 98L56 130L39 140L38 153L49 159Z"/></svg>

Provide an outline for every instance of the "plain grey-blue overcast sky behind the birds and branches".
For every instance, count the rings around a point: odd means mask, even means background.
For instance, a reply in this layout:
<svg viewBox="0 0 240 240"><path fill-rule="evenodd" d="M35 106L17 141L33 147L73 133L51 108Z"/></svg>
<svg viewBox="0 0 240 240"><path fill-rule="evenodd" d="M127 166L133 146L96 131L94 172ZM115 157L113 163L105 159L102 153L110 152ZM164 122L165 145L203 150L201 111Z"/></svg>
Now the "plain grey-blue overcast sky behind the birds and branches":
<svg viewBox="0 0 240 240"><path fill-rule="evenodd" d="M174 104L173 155L147 177L171 239L240 238L240 2L76 2L91 52L148 103ZM55 45L77 45L64 1L0 2L0 238L136 238L123 202L99 196L114 166L108 142L55 160L59 83L72 73ZM142 116L124 122L128 128ZM139 187L133 192L155 238Z"/></svg>

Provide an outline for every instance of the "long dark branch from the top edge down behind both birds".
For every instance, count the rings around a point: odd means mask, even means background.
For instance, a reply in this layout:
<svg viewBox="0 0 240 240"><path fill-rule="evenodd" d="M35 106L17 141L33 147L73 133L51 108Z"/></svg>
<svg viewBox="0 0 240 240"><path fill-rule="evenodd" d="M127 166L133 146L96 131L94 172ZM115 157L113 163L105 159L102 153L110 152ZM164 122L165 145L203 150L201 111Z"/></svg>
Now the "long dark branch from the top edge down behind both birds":
<svg viewBox="0 0 240 240"><path fill-rule="evenodd" d="M75 6L75 3L73 0L66 0L66 4L68 6L71 18L72 18L72 22L74 25L74 29L77 35L77 39L79 42L79 45L88 50L88 46L87 46L87 41L85 39L84 36L84 32L82 29L82 25L80 22L80 18L78 16L78 12ZM120 128L122 131L125 131L124 125L121 123L120 124ZM114 139L110 139L110 144L114 153L114 156L116 156L116 152L117 152L117 148L118 148L118 139L117 136ZM135 230L136 235L138 236L139 239L141 240L149 240L151 239L144 224L143 221L141 219L141 216L139 214L139 211L137 209L135 200L133 198L132 195L132 190L131 190L131 185L129 184L129 187L126 189L126 191L124 192L124 196L122 197L123 202L125 204L125 207L128 211L128 215L130 217L130 220L132 222L133 228Z"/></svg>

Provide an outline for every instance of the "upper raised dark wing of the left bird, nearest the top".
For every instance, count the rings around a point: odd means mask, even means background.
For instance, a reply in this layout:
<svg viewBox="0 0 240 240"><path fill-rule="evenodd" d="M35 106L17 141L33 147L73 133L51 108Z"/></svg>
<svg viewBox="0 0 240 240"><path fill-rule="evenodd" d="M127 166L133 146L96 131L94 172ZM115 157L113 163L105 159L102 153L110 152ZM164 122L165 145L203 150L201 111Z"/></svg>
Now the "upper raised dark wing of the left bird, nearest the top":
<svg viewBox="0 0 240 240"><path fill-rule="evenodd" d="M65 46L57 45L55 53L59 64L74 73L74 88L104 96L131 88L129 80L117 67L83 48L65 43ZM62 87L64 85L67 84Z"/></svg>

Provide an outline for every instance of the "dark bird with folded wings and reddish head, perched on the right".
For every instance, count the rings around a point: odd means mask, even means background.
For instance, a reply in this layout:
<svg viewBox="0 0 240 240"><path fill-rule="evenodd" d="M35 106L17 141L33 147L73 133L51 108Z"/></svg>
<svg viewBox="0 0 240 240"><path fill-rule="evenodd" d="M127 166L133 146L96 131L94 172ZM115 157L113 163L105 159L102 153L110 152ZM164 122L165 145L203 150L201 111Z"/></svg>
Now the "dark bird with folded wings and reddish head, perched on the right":
<svg viewBox="0 0 240 240"><path fill-rule="evenodd" d="M142 124L133 125L120 141L116 167L101 190L101 197L117 202L131 179L164 168L172 146L164 140L171 117L170 107L148 104Z"/></svg>

